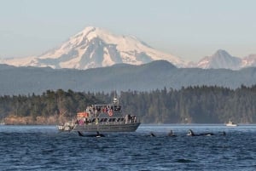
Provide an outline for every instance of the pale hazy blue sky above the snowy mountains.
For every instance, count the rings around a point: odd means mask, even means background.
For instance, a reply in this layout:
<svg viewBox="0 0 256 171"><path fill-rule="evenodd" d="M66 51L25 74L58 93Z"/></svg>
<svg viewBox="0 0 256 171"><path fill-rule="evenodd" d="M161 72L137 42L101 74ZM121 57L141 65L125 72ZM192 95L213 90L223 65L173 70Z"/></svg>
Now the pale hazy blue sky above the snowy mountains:
<svg viewBox="0 0 256 171"><path fill-rule="evenodd" d="M255 0L0 0L0 58L42 54L86 26L183 60L256 54Z"/></svg>

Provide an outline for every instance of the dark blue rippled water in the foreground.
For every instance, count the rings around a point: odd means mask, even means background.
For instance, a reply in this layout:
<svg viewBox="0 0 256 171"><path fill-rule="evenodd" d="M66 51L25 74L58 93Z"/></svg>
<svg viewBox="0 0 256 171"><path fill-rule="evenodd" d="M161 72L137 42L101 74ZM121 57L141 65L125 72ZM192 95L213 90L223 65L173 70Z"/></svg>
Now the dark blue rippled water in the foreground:
<svg viewBox="0 0 256 171"><path fill-rule="evenodd" d="M214 135L190 137L189 128ZM171 129L177 137L166 136ZM0 126L0 170L256 170L256 125L142 125L105 135Z"/></svg>

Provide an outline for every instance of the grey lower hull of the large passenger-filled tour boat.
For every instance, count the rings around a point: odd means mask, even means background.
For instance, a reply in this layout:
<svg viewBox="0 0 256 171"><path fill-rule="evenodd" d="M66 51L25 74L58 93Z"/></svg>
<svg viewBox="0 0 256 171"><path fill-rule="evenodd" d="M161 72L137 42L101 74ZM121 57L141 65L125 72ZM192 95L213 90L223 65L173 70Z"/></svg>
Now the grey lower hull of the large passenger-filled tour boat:
<svg viewBox="0 0 256 171"><path fill-rule="evenodd" d="M135 132L140 123L124 124L84 124L75 125L72 131L81 132Z"/></svg>

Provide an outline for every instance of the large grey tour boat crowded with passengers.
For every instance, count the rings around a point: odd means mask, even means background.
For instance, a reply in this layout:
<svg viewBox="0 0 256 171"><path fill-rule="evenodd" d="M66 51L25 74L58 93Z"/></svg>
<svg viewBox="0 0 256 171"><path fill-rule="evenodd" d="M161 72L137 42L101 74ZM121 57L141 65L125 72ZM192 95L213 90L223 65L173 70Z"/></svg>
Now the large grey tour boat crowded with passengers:
<svg viewBox="0 0 256 171"><path fill-rule="evenodd" d="M58 125L60 131L79 132L135 132L141 123L136 116L123 115L119 100L113 98L110 104L87 106L77 114L75 121Z"/></svg>

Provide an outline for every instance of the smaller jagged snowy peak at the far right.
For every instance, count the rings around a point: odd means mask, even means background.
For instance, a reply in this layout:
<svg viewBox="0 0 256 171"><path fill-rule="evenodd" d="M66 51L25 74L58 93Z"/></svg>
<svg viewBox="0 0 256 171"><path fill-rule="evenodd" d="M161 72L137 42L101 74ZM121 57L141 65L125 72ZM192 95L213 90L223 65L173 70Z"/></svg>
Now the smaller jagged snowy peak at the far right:
<svg viewBox="0 0 256 171"><path fill-rule="evenodd" d="M244 67L256 66L256 55L251 54L244 58L238 58L230 55L225 50L219 49L212 56L207 56L200 60L195 67L204 69L225 68L230 70L239 70Z"/></svg>

